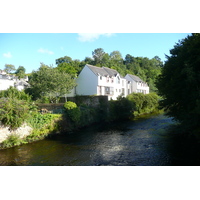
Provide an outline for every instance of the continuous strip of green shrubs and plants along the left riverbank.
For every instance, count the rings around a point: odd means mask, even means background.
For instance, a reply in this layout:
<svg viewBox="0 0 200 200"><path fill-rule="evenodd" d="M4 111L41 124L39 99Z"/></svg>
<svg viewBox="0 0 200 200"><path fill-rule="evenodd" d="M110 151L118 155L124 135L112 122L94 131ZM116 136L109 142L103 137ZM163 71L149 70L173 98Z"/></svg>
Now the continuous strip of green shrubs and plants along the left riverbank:
<svg viewBox="0 0 200 200"><path fill-rule="evenodd" d="M68 101L63 106L62 114L42 114L31 96L11 87L0 92L0 120L4 126L9 126L13 134L1 143L0 148L30 143L52 133L70 132L98 122L127 120L157 110L158 101L159 96L155 93L132 93L127 98L120 96L116 101L100 102L95 107ZM33 130L20 139L14 131L24 123Z"/></svg>

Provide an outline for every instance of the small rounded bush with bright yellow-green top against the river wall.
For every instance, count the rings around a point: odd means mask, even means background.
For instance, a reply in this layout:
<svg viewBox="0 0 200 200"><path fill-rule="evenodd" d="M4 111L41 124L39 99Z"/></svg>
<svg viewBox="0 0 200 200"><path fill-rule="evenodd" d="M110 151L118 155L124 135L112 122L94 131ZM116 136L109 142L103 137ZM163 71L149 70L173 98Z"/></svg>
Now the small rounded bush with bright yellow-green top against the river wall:
<svg viewBox="0 0 200 200"><path fill-rule="evenodd" d="M81 110L77 107L76 103L67 101L64 104L64 108L66 109L67 116L76 124L80 121L81 118Z"/></svg>

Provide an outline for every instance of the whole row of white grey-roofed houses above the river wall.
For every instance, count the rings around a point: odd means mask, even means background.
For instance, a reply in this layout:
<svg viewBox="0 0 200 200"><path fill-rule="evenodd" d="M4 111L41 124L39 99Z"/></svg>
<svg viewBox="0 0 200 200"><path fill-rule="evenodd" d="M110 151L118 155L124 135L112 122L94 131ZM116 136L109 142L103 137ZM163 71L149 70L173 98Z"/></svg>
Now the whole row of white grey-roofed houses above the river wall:
<svg viewBox="0 0 200 200"><path fill-rule="evenodd" d="M68 94L75 95L103 95L108 100L116 100L118 96L126 97L128 94L149 93L147 83L139 77L127 74L122 77L118 71L107 67L85 65L76 79L77 86Z"/></svg>

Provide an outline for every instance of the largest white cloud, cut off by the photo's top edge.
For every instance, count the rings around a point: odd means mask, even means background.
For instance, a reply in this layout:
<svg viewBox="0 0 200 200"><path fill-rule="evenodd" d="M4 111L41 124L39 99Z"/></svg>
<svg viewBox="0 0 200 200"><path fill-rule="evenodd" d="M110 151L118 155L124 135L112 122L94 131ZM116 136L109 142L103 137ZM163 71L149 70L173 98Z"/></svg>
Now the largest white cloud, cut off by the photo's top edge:
<svg viewBox="0 0 200 200"><path fill-rule="evenodd" d="M78 40L81 42L93 42L97 40L100 36L110 37L113 36L114 33L78 33Z"/></svg>

